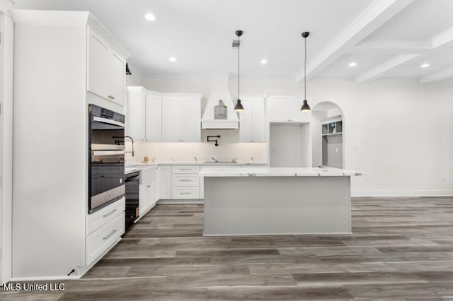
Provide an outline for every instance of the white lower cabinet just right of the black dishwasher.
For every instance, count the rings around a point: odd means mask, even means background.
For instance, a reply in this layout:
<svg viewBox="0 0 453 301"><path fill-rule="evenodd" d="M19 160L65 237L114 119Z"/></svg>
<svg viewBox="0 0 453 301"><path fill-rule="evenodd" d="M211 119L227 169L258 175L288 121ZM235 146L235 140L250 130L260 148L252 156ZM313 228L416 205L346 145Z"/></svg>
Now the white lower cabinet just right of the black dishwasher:
<svg viewBox="0 0 453 301"><path fill-rule="evenodd" d="M157 167L140 170L139 211L144 216L157 202Z"/></svg>

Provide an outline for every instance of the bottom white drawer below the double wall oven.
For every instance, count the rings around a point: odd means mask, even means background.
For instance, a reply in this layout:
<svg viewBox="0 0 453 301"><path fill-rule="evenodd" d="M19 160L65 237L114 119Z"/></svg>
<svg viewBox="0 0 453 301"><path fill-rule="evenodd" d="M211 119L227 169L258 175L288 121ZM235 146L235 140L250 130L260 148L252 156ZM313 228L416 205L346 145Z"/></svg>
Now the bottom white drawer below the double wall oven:
<svg viewBox="0 0 453 301"><path fill-rule="evenodd" d="M98 259L125 232L125 215L120 214L86 237L86 265Z"/></svg>

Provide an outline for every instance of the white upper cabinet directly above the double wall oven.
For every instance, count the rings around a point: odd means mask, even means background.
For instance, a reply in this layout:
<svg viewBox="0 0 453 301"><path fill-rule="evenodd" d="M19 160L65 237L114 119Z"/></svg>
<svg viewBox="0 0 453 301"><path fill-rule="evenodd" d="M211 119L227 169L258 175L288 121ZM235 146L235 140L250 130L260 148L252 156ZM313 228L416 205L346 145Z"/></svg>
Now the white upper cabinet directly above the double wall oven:
<svg viewBox="0 0 453 301"><path fill-rule="evenodd" d="M128 54L101 25L88 25L87 90L125 105L125 73Z"/></svg>

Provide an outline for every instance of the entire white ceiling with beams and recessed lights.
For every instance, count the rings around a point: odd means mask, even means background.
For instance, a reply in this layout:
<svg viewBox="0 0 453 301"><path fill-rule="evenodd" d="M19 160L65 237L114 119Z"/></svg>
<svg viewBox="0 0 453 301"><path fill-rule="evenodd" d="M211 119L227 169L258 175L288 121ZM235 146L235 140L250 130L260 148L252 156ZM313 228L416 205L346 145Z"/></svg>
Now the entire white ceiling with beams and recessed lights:
<svg viewBox="0 0 453 301"><path fill-rule="evenodd" d="M310 78L453 77L452 0L17 0L16 8L91 11L144 76L237 73L231 41L241 29L245 76L302 80L301 33L310 31Z"/></svg>

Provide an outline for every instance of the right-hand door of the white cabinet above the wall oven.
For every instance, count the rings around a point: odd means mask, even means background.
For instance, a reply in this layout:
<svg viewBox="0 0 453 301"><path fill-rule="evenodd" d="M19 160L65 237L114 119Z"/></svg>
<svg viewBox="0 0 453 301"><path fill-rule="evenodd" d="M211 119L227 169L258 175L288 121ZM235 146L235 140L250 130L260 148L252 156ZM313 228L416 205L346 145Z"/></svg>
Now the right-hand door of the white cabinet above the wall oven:
<svg viewBox="0 0 453 301"><path fill-rule="evenodd" d="M125 61L118 57L115 52L110 52L108 98L120 105L125 105L125 74Z"/></svg>

